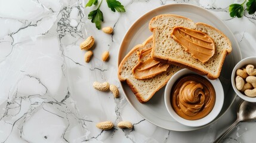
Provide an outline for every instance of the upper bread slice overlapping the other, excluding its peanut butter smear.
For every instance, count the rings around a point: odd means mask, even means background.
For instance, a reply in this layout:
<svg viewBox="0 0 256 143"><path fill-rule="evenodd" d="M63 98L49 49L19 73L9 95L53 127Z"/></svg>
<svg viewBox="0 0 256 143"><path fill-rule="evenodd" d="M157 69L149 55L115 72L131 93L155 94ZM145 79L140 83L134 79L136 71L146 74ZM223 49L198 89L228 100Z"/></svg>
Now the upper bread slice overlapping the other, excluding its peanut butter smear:
<svg viewBox="0 0 256 143"><path fill-rule="evenodd" d="M202 63L192 57L185 48L171 37L175 26L183 26L206 33L215 43L215 54L206 63ZM153 17L149 23L149 29L153 32L152 57L163 63L175 64L206 75L209 79L217 79L226 58L232 51L229 38L220 30L205 23L194 23L186 17L174 14L162 14Z"/></svg>

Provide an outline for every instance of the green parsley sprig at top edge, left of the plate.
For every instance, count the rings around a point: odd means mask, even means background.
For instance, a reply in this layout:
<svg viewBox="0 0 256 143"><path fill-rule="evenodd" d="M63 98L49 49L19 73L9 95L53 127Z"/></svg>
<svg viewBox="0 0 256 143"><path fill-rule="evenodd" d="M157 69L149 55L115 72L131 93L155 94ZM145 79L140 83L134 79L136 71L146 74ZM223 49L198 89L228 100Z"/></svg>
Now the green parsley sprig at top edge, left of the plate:
<svg viewBox="0 0 256 143"><path fill-rule="evenodd" d="M93 10L88 14L88 19L90 19L92 23L95 23L95 26L97 27L97 29L101 28L101 22L104 21L103 13L100 10L100 5L102 1L103 0L101 0L96 10ZM116 12L116 11L118 11L119 13L125 12L124 5L122 5L121 2L117 0L106 0L106 2L107 2L107 7L109 7L110 10L112 10L113 12ZM85 5L85 7L91 7L92 5L97 5L97 4L98 4L98 0L89 0Z"/></svg>

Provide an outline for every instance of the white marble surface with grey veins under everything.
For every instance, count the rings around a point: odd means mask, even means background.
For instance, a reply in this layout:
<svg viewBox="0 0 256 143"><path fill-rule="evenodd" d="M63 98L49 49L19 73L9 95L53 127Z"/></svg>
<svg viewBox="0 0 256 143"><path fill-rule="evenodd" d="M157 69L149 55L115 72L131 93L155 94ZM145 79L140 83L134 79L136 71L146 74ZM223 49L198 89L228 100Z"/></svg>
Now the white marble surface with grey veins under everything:
<svg viewBox="0 0 256 143"><path fill-rule="evenodd" d="M233 2L220 0L121 1L125 13L113 13L103 1L102 26L114 27L113 35L97 30L88 20L94 8L87 1L0 1L0 142L212 142L236 117L239 98L217 122L206 128L176 132L143 119L125 99L92 88L94 81L108 81L120 88L117 56L122 38L141 15L161 5L188 3L203 7L229 26L243 58L256 55L256 15L230 18ZM79 44L95 37L94 55L84 62ZM109 61L101 61L103 51ZM100 130L95 124L115 125L129 120L134 129ZM223 142L254 142L255 122L243 122Z"/></svg>

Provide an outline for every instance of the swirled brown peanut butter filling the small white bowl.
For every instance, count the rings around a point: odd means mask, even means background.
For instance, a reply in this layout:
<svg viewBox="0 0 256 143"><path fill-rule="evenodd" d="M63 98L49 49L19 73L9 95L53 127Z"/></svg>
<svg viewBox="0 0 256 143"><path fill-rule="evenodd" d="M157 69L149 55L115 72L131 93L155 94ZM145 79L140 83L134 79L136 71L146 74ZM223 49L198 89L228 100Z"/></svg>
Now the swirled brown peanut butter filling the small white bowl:
<svg viewBox="0 0 256 143"><path fill-rule="evenodd" d="M214 87L207 79L196 74L181 77L172 88L171 104L184 119L201 119L214 107Z"/></svg>

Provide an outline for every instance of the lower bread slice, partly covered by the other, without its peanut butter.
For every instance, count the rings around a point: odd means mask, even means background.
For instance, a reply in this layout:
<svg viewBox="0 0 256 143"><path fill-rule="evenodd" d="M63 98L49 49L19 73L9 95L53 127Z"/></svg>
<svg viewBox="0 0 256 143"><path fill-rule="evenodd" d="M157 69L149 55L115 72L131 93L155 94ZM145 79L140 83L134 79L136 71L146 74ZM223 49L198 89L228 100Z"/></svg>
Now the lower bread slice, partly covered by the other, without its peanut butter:
<svg viewBox="0 0 256 143"><path fill-rule="evenodd" d="M137 51L152 47L152 36L150 36L143 44L134 46L124 57L118 67L118 78L122 82L127 82L132 92L141 103L147 102L153 95L166 85L171 76L181 67L170 65L166 71L158 74L150 79L135 79L132 74L132 68L138 63ZM141 60L144 61L150 56L150 53Z"/></svg>

